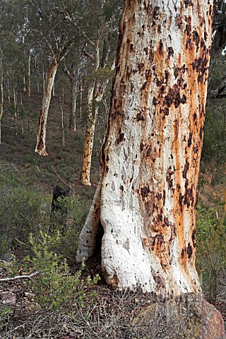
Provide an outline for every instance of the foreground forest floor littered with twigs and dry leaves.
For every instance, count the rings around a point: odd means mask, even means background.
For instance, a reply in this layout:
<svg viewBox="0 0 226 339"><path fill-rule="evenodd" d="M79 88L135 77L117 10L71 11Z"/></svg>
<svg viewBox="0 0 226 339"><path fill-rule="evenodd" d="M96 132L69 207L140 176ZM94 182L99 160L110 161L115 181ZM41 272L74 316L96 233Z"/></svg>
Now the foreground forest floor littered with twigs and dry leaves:
<svg viewBox="0 0 226 339"><path fill-rule="evenodd" d="M72 267L72 274L74 269L76 268ZM19 273L27 274L23 271ZM85 275L95 273L101 275L99 259L91 258L83 273L84 278ZM0 278L7 277L8 271L0 269ZM142 309L156 302L155 297L150 293L114 291L107 287L103 277L97 285L88 289L87 293L91 292L95 292L95 297L85 298L83 307L74 305L68 314L66 309L63 312L62 309L49 311L41 307L30 288L29 279L19 278L1 283L0 338L133 338L128 335L129 326L133 325L133 321ZM221 312L226 325L226 303L217 302L215 307ZM114 326L117 336L106 330ZM180 337L175 335L170 338Z"/></svg>

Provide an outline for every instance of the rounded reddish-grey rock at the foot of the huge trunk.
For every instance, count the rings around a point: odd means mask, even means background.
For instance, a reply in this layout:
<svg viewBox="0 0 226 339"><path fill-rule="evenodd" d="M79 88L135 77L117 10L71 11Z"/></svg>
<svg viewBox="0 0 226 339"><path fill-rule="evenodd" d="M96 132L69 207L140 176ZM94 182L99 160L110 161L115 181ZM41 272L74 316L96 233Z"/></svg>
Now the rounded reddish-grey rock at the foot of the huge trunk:
<svg viewBox="0 0 226 339"><path fill-rule="evenodd" d="M136 317L138 338L225 339L220 311L201 294L188 293L155 300Z"/></svg>

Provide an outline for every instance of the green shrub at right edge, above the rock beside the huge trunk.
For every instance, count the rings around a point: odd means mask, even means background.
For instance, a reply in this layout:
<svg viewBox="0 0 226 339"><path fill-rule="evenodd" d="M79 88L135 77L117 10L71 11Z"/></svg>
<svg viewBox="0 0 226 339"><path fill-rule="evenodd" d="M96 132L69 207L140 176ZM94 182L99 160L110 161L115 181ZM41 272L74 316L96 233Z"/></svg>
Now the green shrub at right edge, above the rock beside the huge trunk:
<svg viewBox="0 0 226 339"><path fill-rule="evenodd" d="M226 225L215 210L198 206L196 265L203 292L215 303L225 293Z"/></svg>

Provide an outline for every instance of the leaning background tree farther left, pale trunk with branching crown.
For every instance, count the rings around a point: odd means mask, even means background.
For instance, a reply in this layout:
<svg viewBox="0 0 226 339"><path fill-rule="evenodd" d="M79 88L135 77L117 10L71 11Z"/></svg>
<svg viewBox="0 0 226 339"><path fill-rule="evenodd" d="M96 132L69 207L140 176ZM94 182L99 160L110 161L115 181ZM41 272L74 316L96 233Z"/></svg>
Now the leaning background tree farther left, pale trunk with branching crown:
<svg viewBox="0 0 226 339"><path fill-rule="evenodd" d="M71 46L78 38L75 30L76 4L74 1L31 1L32 8L29 22L30 28L42 44L45 44L51 53L49 71L45 83L42 106L40 109L40 119L37 131L37 144L35 152L39 155L47 155L46 151L46 129L49 103L52 96L54 78L57 73L59 63Z"/></svg>

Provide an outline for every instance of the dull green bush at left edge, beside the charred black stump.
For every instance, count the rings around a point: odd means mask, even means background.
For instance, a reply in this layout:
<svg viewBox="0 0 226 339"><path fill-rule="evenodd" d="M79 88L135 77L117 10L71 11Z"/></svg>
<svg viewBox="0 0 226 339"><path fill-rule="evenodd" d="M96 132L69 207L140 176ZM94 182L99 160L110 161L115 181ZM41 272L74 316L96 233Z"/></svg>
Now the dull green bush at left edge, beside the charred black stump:
<svg viewBox="0 0 226 339"><path fill-rule="evenodd" d="M26 242L30 232L47 228L49 197L0 177L0 247L2 256L17 239Z"/></svg>

